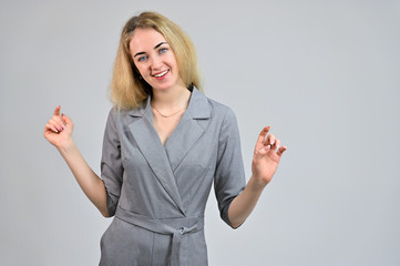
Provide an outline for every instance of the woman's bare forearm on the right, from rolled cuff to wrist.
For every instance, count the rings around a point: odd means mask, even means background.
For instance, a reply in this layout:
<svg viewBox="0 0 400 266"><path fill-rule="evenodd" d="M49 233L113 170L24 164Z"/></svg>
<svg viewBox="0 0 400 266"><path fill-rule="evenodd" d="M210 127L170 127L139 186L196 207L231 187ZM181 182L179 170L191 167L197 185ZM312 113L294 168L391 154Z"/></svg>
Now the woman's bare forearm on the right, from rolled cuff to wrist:
<svg viewBox="0 0 400 266"><path fill-rule="evenodd" d="M235 197L228 209L228 217L234 228L242 225L256 206L265 185L257 184L254 176L248 181L245 190Z"/></svg>

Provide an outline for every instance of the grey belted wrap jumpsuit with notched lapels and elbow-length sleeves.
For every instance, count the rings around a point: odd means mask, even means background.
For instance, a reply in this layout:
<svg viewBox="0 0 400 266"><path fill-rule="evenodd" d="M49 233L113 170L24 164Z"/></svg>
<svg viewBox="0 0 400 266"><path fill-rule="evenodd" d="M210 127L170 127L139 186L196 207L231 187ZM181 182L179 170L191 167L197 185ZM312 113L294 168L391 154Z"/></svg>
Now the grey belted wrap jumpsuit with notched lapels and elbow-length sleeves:
<svg viewBox="0 0 400 266"><path fill-rule="evenodd" d="M204 209L214 182L222 218L245 186L236 117L195 88L163 145L151 99L110 111L101 162L107 208L100 265L205 266Z"/></svg>

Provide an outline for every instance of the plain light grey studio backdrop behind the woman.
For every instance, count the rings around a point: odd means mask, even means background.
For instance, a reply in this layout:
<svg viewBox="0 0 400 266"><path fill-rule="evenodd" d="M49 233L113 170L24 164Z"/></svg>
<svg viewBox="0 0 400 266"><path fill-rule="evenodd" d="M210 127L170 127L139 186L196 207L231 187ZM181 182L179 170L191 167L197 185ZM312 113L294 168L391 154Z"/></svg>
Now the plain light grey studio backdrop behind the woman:
<svg viewBox="0 0 400 266"><path fill-rule="evenodd" d="M1 265L96 265L111 219L42 136L57 104L99 173L124 22L155 10L196 44L206 94L229 105L247 176L264 125L288 146L246 224L214 194L209 264L400 264L400 2L1 1Z"/></svg>

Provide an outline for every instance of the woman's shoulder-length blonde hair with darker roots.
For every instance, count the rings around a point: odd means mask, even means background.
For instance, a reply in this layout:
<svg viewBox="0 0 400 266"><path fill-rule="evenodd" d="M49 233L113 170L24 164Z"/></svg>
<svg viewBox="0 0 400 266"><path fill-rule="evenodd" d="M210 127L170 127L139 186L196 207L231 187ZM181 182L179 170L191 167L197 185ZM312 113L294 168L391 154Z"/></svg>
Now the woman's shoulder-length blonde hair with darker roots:
<svg viewBox="0 0 400 266"><path fill-rule="evenodd" d="M136 28L152 28L164 35L175 53L180 76L186 88L196 86L203 92L197 55L192 40L174 22L156 12L132 17L124 25L115 58L111 82L111 101L119 109L130 110L141 105L152 88L140 79L130 52L130 41Z"/></svg>

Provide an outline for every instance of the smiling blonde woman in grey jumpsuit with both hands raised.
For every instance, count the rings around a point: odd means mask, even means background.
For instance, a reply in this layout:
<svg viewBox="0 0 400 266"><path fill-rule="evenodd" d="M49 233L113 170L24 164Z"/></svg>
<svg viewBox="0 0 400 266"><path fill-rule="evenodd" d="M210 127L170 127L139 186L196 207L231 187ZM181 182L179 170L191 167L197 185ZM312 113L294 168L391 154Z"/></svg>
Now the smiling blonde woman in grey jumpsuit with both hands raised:
<svg viewBox="0 0 400 266"><path fill-rule="evenodd" d="M144 12L122 32L101 177L72 140L60 106L44 136L105 217L100 265L207 265L204 209L214 182L222 218L237 228L286 147L265 127L245 184L236 117L199 92L194 47L165 17Z"/></svg>

